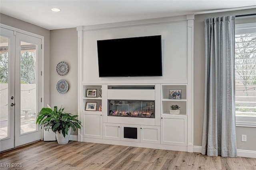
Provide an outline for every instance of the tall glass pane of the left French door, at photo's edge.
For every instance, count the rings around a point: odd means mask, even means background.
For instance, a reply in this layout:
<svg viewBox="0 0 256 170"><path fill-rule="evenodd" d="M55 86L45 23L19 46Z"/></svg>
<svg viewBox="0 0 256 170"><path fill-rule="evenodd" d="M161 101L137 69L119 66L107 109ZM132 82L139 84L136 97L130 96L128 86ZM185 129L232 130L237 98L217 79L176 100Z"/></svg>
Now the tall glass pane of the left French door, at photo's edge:
<svg viewBox="0 0 256 170"><path fill-rule="evenodd" d="M8 49L9 38L0 36L0 140L9 137Z"/></svg>

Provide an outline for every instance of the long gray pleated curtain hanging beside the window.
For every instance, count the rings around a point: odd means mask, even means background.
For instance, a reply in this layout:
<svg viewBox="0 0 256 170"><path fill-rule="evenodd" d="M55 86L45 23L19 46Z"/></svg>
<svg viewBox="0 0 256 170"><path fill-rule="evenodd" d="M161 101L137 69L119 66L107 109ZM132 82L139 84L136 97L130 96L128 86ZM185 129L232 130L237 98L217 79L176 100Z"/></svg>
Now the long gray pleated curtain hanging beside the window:
<svg viewBox="0 0 256 170"><path fill-rule="evenodd" d="M237 157L235 116L235 16L205 23L205 97L202 154Z"/></svg>

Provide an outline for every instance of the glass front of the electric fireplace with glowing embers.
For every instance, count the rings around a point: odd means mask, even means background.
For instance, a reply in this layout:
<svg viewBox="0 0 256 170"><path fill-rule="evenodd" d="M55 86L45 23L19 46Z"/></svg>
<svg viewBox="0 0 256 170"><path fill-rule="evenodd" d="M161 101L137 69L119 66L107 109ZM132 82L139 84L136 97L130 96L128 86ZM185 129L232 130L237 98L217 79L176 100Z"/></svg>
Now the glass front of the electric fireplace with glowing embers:
<svg viewBox="0 0 256 170"><path fill-rule="evenodd" d="M108 116L155 118L155 101L108 100Z"/></svg>

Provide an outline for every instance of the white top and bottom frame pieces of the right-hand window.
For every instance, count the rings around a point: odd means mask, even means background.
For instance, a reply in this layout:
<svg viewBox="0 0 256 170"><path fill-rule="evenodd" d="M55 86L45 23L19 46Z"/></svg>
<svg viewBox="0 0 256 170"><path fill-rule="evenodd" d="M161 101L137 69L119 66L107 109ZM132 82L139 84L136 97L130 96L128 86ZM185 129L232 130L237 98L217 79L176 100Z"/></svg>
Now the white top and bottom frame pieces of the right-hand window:
<svg viewBox="0 0 256 170"><path fill-rule="evenodd" d="M236 24L235 29L235 34L256 32L256 22ZM256 128L256 116L236 115L236 126Z"/></svg>

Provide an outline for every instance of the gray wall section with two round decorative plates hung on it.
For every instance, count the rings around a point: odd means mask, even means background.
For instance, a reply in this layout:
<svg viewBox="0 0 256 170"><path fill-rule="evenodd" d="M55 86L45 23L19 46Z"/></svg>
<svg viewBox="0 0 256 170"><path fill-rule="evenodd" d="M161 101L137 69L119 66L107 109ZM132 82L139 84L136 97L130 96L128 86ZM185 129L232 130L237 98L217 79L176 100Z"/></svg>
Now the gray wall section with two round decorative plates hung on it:
<svg viewBox="0 0 256 170"><path fill-rule="evenodd" d="M67 113L78 114L78 36L76 28L50 31L50 106L65 108ZM68 74L60 76L56 66L64 61ZM56 89L59 80L68 82L68 92L60 94ZM72 134L77 134L73 132Z"/></svg>

